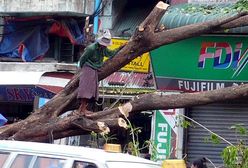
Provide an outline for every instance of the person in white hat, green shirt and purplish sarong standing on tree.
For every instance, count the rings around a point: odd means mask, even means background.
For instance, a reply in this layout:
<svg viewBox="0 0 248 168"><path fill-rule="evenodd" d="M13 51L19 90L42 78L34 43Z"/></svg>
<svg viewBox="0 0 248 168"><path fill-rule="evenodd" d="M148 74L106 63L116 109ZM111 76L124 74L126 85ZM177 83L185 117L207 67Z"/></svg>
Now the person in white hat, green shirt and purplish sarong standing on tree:
<svg viewBox="0 0 248 168"><path fill-rule="evenodd" d="M112 58L119 51L119 49L109 50L107 47L111 44L111 34L107 30L95 43L85 48L84 53L79 59L79 66L81 71L83 71L80 76L77 95L81 102L79 107L80 114L91 114L92 112L87 110L88 102L90 99L98 100L97 72L103 65L104 56Z"/></svg>

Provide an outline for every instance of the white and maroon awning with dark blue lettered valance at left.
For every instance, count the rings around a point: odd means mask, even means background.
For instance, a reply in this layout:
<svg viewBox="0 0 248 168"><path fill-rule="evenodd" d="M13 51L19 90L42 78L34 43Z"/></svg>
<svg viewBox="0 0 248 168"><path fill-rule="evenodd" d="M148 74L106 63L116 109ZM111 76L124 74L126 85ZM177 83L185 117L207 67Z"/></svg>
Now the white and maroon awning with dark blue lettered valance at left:
<svg viewBox="0 0 248 168"><path fill-rule="evenodd" d="M0 101L33 102L36 96L52 98L70 81L69 72L0 72Z"/></svg>

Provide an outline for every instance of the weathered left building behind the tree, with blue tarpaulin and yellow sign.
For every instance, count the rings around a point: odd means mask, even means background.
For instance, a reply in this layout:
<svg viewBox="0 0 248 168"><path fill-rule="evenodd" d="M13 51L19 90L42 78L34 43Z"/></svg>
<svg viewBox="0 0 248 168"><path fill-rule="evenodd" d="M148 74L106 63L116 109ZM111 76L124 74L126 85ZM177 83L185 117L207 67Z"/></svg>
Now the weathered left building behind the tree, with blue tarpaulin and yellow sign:
<svg viewBox="0 0 248 168"><path fill-rule="evenodd" d="M86 16L90 17L90 24L96 25L97 36L101 30L114 27L126 4L120 0L0 1L4 25L0 29L3 34L0 43L0 73L3 77L0 80L0 113L9 124L25 119L51 99L77 71ZM113 41L117 42L112 47L127 40L113 36ZM154 91L149 53L144 57L100 83L100 100L92 105L94 111L125 103L136 94ZM144 128L142 141L150 138L149 116L142 113L130 118L136 126ZM116 134L119 139L129 138L128 132L117 131ZM71 138L64 142L88 146L88 140L89 136L84 136L81 140Z"/></svg>

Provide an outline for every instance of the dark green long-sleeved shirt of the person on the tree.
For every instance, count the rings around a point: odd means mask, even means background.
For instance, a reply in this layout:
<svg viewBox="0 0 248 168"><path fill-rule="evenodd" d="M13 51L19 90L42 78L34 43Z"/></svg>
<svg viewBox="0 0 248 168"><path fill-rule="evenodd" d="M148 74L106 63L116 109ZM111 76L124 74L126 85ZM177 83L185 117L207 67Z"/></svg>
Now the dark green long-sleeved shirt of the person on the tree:
<svg viewBox="0 0 248 168"><path fill-rule="evenodd" d="M82 68L84 64L87 64L93 69L99 69L103 65L104 56L112 58L117 52L118 49L102 49L99 47L99 43L92 43L85 48L84 53L81 55L79 59L79 66Z"/></svg>

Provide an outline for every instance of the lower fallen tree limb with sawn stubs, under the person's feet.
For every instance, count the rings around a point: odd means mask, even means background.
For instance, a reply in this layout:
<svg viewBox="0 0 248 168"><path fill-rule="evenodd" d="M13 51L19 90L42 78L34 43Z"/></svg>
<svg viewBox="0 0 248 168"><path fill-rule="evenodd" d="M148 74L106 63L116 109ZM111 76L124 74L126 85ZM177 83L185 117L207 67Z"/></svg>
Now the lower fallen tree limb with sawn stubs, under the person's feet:
<svg viewBox="0 0 248 168"><path fill-rule="evenodd" d="M108 132L111 128L125 127L125 121L119 117L128 117L132 113L137 113L143 110L160 110L172 108L185 108L220 101L233 100L236 98L245 98L248 96L248 84L223 88L213 91L183 93L163 95L144 94L137 96L133 101L130 101L120 107L109 109L106 111L97 112L87 118L78 115L70 115L65 118L51 119L48 123L40 123L32 126L30 131L19 131L10 139L27 140L29 135L35 134L40 137L40 141L48 140L52 133L54 139L64 137L66 134L60 134L63 131L70 132L74 128L81 128L82 132ZM147 101L149 100L149 101ZM111 116L111 117L109 117ZM102 125L99 125L102 123ZM29 125L30 126L30 125ZM76 128L78 127L78 128ZM41 129L42 128L42 129ZM32 140L32 138L30 139Z"/></svg>

